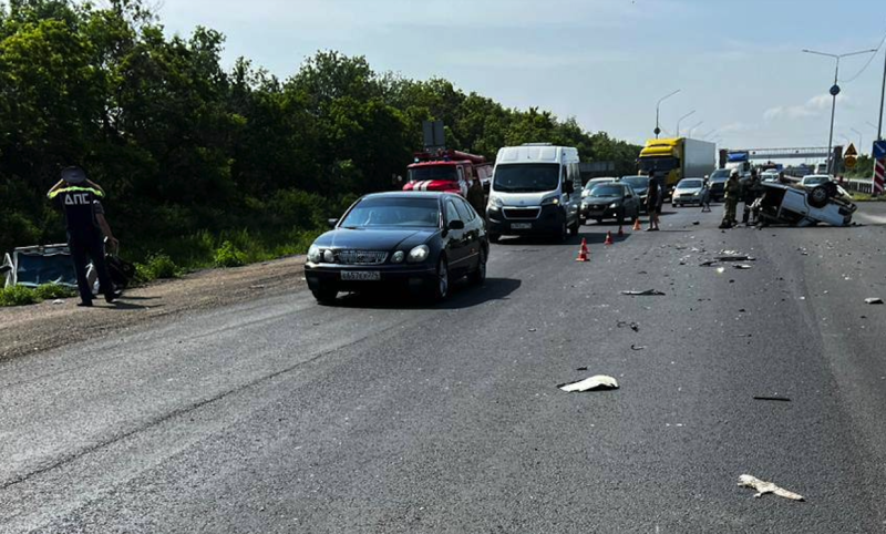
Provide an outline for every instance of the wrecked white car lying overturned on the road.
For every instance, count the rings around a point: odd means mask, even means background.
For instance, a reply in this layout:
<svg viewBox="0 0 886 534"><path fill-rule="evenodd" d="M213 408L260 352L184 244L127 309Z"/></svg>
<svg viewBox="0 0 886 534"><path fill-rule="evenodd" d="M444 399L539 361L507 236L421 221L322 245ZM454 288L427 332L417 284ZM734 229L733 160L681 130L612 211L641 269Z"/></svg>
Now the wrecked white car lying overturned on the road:
<svg viewBox="0 0 886 534"><path fill-rule="evenodd" d="M837 184L828 182L811 189L763 183L763 195L753 204L762 225L811 226L824 223L848 226L857 206Z"/></svg>

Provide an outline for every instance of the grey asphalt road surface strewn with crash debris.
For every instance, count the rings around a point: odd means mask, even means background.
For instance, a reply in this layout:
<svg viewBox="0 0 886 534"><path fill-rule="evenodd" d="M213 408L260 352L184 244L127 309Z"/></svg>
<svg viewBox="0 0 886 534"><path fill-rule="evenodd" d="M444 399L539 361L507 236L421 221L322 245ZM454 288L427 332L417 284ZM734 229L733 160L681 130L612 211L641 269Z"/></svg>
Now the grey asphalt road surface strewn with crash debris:
<svg viewBox="0 0 886 534"><path fill-rule="evenodd" d="M583 228L589 264L504 240L442 306L299 291L3 362L0 531L884 532L880 206L678 209ZM724 249L756 260L699 266Z"/></svg>

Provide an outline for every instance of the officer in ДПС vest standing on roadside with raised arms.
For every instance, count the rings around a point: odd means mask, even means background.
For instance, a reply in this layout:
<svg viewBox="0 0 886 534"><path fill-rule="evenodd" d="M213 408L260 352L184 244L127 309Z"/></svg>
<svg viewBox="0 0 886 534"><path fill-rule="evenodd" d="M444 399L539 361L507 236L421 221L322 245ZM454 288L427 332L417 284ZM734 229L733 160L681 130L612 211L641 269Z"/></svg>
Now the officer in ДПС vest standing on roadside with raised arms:
<svg viewBox="0 0 886 534"><path fill-rule="evenodd" d="M100 202L104 191L95 183L86 179L86 172L80 167L66 167L61 172L62 179L49 191L47 196L54 201L64 212L68 227L68 247L76 271L76 286L80 290L78 306L92 306L92 288L86 280L87 260L99 275L100 291L107 302L113 302L120 292L111 281L111 274L104 259L102 235L110 244L117 246L111 226L104 217L104 208Z"/></svg>

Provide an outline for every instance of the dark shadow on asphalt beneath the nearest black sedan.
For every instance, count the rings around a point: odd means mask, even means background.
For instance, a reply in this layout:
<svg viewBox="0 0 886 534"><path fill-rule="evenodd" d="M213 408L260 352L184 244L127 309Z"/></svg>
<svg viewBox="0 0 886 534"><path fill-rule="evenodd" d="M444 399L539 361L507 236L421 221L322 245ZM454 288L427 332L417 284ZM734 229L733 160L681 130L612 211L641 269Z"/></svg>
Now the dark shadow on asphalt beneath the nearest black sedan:
<svg viewBox="0 0 886 534"><path fill-rule="evenodd" d="M523 283L511 278L486 278L482 287L466 280L456 283L450 298L440 304L410 295L409 291L351 292L336 300L337 307L352 309L465 309L493 300L507 300Z"/></svg>

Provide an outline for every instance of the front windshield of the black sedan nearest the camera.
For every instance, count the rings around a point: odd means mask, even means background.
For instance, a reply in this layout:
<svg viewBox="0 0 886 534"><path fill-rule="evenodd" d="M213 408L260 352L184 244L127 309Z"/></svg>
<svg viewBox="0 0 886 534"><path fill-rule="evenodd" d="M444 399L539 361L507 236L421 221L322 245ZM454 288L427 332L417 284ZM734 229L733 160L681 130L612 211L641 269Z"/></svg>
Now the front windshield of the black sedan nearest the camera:
<svg viewBox="0 0 886 534"><path fill-rule="evenodd" d="M348 213L342 228L437 227L440 203L436 198L367 198Z"/></svg>

